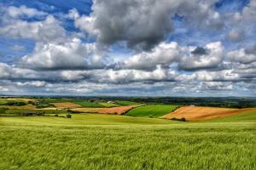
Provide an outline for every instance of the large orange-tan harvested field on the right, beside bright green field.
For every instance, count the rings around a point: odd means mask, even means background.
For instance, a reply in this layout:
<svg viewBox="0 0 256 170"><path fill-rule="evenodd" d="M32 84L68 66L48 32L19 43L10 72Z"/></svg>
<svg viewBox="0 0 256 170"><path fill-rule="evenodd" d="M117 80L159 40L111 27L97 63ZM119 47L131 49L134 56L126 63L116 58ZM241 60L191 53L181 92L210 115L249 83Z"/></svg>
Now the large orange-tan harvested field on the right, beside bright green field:
<svg viewBox="0 0 256 170"><path fill-rule="evenodd" d="M256 110L256 108L247 109L230 109L230 108L218 108L218 107L197 107L197 106L184 106L172 113L163 116L166 119L181 119L185 118L187 121L201 121L215 118L221 118L226 116L233 116L240 114L244 111Z"/></svg>

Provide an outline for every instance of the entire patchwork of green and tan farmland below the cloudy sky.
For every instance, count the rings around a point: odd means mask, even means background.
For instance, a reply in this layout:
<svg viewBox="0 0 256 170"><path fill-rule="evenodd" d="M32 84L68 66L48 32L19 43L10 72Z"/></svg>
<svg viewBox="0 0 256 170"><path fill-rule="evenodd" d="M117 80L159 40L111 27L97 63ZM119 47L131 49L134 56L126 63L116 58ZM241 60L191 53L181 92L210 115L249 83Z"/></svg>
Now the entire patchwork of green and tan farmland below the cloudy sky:
<svg viewBox="0 0 256 170"><path fill-rule="evenodd" d="M256 99L199 100L2 97L0 167L254 169Z"/></svg>

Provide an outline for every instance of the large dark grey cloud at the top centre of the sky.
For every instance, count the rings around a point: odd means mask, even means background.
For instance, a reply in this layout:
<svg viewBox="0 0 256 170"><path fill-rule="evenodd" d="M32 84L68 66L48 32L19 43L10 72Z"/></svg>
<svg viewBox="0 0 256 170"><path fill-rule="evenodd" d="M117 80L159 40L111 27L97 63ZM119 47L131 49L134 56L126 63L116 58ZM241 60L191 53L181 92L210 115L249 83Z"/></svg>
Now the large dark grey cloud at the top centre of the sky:
<svg viewBox="0 0 256 170"><path fill-rule="evenodd" d="M220 29L224 26L218 13L212 10L216 1L201 0L95 0L92 14L69 16L75 26L96 36L98 42L127 42L131 48L153 48L174 30L172 17L184 16L195 27ZM84 24L81 24L84 21ZM87 25L87 26L86 26Z"/></svg>

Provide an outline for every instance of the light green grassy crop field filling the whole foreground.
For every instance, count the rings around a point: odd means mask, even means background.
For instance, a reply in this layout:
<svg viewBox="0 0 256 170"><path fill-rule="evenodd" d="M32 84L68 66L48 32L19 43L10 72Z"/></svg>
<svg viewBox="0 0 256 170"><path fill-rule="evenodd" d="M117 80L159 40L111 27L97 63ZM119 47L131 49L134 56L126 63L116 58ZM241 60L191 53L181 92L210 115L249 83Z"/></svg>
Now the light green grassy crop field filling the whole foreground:
<svg viewBox="0 0 256 170"><path fill-rule="evenodd" d="M251 119L0 117L0 169L255 169Z"/></svg>

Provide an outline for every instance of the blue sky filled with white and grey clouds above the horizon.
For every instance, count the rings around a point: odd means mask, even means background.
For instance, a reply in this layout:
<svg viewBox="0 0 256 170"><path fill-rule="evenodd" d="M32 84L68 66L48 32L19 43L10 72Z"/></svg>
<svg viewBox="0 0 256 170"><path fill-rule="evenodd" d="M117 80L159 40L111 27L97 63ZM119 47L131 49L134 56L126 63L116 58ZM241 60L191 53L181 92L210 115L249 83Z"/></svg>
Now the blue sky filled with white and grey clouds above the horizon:
<svg viewBox="0 0 256 170"><path fill-rule="evenodd" d="M0 94L256 96L256 0L0 0Z"/></svg>

